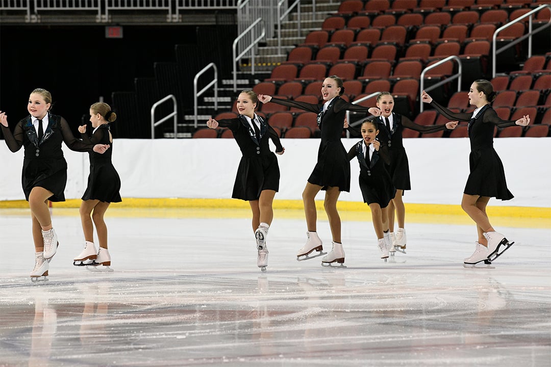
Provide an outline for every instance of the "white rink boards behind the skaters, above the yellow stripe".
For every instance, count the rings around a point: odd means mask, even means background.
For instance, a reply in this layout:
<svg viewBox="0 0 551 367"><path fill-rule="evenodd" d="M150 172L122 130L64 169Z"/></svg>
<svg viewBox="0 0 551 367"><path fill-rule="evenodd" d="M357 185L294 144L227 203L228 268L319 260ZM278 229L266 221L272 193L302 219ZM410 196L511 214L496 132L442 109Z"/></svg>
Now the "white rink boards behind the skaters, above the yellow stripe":
<svg viewBox="0 0 551 367"><path fill-rule="evenodd" d="M345 149L359 138L343 139ZM319 139L282 139L285 154L278 156L281 171L277 199L301 200L314 168ZM467 138L404 139L412 190L404 201L419 204L460 204L469 166ZM507 185L515 198L492 200L491 205L551 207L551 138L494 140L505 167ZM273 149L273 146L272 146ZM68 162L67 199L85 190L88 154L63 146ZM115 139L113 162L121 176L123 198L231 198L241 157L233 139ZM2 180L0 200L25 199L20 177L23 149L16 154L0 144ZM362 201L358 162L351 162L350 193L340 200ZM320 193L317 199L323 199Z"/></svg>

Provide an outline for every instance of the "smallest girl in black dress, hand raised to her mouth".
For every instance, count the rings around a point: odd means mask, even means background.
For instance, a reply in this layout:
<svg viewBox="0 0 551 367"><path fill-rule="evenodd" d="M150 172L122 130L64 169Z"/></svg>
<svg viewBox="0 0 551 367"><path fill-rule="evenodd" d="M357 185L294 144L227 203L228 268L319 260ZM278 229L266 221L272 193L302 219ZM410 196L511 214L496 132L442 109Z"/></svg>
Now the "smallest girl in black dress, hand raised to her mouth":
<svg viewBox="0 0 551 367"><path fill-rule="evenodd" d="M356 143L348 151L348 159L358 158L360 164L360 190L364 202L369 205L377 246L381 251L381 259L388 258L390 237L388 237L388 203L396 195L396 188L386 169L390 164L388 147L375 138L379 134L379 125L373 120L365 120L361 124L363 140Z"/></svg>

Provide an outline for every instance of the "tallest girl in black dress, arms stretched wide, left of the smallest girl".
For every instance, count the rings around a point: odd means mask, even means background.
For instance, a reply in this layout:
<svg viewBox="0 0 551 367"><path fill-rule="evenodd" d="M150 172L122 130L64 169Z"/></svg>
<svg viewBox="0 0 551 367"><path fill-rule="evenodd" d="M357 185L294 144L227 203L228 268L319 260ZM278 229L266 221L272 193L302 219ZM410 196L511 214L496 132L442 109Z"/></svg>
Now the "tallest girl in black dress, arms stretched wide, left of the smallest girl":
<svg viewBox="0 0 551 367"><path fill-rule="evenodd" d="M325 258L322 265L332 262L344 262L344 250L341 242L341 217L337 211L337 200L341 191L350 191L350 162L347 151L341 142L343 121L347 111L368 113L368 108L353 105L343 100L344 86L341 78L336 75L323 80L321 95L325 103L305 103L292 100L281 100L272 96L259 95L262 103L274 102L279 105L296 107L304 111L317 113L317 124L321 130L320 148L317 154L317 163L310 174L306 188L302 191L302 201L306 215L306 232L308 239L296 255L297 260L306 260L325 255L321 239L316 233L316 202L315 198L320 190L325 190L323 207L329 218L329 227L333 235L333 248ZM313 251L318 251L315 256L308 256Z"/></svg>

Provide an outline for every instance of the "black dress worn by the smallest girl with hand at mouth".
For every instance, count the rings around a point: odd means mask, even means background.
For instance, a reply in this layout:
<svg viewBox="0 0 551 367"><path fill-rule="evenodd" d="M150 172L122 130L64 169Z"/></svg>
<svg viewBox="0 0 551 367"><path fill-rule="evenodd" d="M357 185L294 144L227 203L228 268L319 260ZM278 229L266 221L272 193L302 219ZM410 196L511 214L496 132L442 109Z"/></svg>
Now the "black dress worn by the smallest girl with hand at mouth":
<svg viewBox="0 0 551 367"><path fill-rule="evenodd" d="M366 204L376 202L382 208L396 195L396 188L392 184L392 178L386 169L390 163L388 148L381 144L379 151L373 151L371 158L365 157L365 150L369 149L364 141L359 141L348 151L348 159L358 158L360 164L360 190Z"/></svg>

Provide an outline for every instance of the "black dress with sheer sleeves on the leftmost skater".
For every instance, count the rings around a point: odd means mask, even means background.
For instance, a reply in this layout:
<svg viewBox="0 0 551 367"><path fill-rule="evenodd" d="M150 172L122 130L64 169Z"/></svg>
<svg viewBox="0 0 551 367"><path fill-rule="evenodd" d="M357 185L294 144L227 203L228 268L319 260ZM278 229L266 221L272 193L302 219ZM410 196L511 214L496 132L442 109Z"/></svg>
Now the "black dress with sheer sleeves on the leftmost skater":
<svg viewBox="0 0 551 367"><path fill-rule="evenodd" d="M30 115L15 125L13 134L9 128L0 125L9 150L17 152L21 146L25 149L21 185L27 201L34 187L51 191L50 201L65 201L67 162L61 149L62 141L74 151L86 152L94 148L93 144L74 137L66 119L50 112L47 116L48 126L40 141Z"/></svg>

